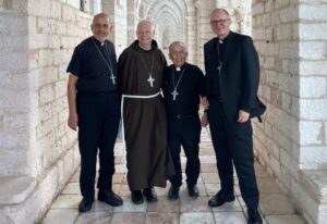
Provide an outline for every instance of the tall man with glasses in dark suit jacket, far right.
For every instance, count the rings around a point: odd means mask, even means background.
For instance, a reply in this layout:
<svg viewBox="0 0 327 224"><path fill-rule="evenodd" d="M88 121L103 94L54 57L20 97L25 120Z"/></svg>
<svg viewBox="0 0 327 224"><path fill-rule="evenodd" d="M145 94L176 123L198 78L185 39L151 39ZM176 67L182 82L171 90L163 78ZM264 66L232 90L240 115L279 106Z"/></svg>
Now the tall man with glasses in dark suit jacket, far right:
<svg viewBox="0 0 327 224"><path fill-rule="evenodd" d="M231 18L222 9L210 14L217 35L204 46L207 99L213 144L221 189L209 201L219 207L235 199L233 164L242 197L247 207L249 223L262 223L258 213L259 192L254 173L251 115L257 104L259 80L258 55L251 37L229 29ZM206 120L203 117L203 120Z"/></svg>

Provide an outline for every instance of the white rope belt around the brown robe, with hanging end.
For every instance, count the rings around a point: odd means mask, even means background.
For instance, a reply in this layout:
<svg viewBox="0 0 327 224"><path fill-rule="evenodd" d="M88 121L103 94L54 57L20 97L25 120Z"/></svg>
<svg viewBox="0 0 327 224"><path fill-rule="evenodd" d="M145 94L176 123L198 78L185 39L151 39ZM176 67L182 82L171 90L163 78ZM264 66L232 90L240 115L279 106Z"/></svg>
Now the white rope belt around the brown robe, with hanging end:
<svg viewBox="0 0 327 224"><path fill-rule="evenodd" d="M158 97L161 94L161 91L158 91L155 95L122 95L121 98L121 105L120 105L120 111L121 111L121 139L122 139L122 145L123 145L123 154L122 154L122 164L124 165L124 170L126 171L126 141L125 141L125 128L124 128L124 116L123 116L123 111L124 111L124 99L125 98L131 98L131 99L150 99ZM126 172L125 172L126 175Z"/></svg>

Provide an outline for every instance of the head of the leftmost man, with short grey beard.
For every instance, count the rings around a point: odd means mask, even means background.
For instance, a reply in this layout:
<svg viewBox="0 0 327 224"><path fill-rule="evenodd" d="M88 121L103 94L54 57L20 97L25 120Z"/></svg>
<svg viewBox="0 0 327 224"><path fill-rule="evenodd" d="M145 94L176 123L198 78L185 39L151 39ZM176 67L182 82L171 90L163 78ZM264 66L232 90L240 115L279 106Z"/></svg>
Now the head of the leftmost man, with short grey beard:
<svg viewBox="0 0 327 224"><path fill-rule="evenodd" d="M95 15L93 23L90 25L92 33L94 37L100 42L105 41L110 33L111 25L109 17L105 13Z"/></svg>

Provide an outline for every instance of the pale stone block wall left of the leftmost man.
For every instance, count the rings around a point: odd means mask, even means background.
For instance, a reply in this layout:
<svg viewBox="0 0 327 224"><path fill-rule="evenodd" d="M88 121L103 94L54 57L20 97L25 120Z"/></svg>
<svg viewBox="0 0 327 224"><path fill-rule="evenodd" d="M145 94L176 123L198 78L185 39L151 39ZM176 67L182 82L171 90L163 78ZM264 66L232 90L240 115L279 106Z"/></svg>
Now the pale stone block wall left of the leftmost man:
<svg viewBox="0 0 327 224"><path fill-rule="evenodd" d="M0 20L0 223L35 223L80 164L65 69L92 17L65 0L7 0Z"/></svg>

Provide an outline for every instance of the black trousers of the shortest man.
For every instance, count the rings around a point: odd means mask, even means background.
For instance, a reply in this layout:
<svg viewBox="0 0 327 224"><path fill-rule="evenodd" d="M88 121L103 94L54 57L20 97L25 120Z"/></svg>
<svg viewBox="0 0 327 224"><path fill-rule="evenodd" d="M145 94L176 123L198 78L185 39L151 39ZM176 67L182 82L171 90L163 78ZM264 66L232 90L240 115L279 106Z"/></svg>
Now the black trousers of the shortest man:
<svg viewBox="0 0 327 224"><path fill-rule="evenodd" d="M186 155L186 183L195 185L199 175L198 144L201 122L197 115L178 119L168 116L168 146L175 174L169 179L175 186L182 185L181 146Z"/></svg>

